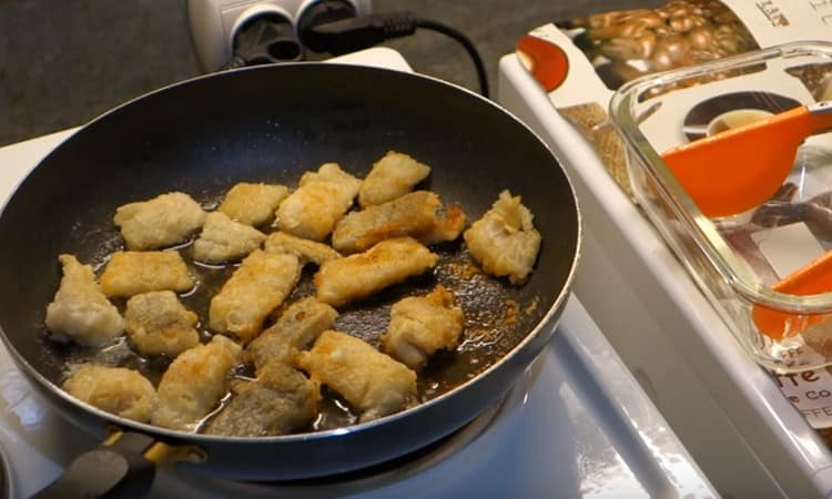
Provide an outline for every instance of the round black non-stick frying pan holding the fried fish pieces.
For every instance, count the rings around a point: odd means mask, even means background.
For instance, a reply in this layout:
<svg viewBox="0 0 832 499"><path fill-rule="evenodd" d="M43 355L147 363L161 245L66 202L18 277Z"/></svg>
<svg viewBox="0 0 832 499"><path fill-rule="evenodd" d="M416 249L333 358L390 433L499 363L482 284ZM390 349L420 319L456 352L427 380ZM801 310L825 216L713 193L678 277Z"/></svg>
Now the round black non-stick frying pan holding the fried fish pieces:
<svg viewBox="0 0 832 499"><path fill-rule="evenodd" d="M388 150L433 166L426 185L479 217L509 189L535 214L542 247L530 281L505 285L521 307L490 367L413 409L346 430L267 438L169 431L113 417L63 394L72 353L45 337L57 256L101 262L120 244L115 207L169 191L209 203L237 181L294 185L327 161L364 176ZM367 467L422 448L495 404L545 347L578 258L572 187L544 143L507 112L457 86L379 69L300 63L256 67L175 84L84 126L24 180L0 215L0 329L12 357L77 425L105 424L205 451L194 471L287 480ZM503 342L504 344L506 342ZM464 356L459 356L465 360ZM467 369L446 359L449 370ZM556 396L552 394L552 396Z"/></svg>

